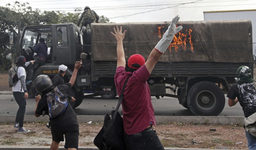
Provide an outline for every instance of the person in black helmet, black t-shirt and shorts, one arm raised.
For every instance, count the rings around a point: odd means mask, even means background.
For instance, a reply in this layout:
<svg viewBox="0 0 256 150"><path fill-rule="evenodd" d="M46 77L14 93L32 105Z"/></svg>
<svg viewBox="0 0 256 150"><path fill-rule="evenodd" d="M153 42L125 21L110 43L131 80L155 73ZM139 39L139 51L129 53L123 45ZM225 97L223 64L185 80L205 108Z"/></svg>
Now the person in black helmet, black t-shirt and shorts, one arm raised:
<svg viewBox="0 0 256 150"><path fill-rule="evenodd" d="M67 97L67 91L74 85L77 71L80 69L82 61L76 61L73 74L70 81L64 85L58 85L58 89ZM35 89L42 94L35 97L35 117L39 117L48 114L48 104L46 94L53 90L53 82L47 75L39 75L35 79ZM56 118L50 118L49 125L51 125L52 133L52 144L51 150L58 150L60 141L64 141L65 134L65 148L68 150L78 149L78 139L79 139L79 124L76 118L77 114L74 112L70 104L68 104L65 111L63 111L60 116Z"/></svg>

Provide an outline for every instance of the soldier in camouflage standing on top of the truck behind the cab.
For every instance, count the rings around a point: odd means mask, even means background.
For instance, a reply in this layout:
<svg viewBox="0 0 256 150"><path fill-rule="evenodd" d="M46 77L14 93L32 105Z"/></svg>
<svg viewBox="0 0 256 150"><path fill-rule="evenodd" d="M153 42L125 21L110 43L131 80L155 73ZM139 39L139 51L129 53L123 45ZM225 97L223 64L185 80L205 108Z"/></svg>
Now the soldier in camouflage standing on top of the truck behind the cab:
<svg viewBox="0 0 256 150"><path fill-rule="evenodd" d="M89 26L91 28L91 23L93 23L95 20L96 20L96 23L99 23L99 16L95 13L95 11L91 10L89 6L84 7L84 12L82 13L80 19L77 22L78 27L79 27L82 19L83 19L82 27L83 26L87 27L87 25L89 24Z"/></svg>

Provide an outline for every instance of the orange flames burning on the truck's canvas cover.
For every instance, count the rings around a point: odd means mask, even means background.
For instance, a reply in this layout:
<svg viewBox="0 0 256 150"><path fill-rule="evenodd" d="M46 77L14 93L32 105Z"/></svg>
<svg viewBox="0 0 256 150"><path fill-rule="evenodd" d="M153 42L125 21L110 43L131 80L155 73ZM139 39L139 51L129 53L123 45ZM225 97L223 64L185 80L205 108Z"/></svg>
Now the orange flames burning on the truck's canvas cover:
<svg viewBox="0 0 256 150"><path fill-rule="evenodd" d="M163 28L164 26L160 26L157 27L158 28L158 37L162 37L161 36L161 28ZM164 34L164 32L162 33L162 35ZM175 36L173 37L173 40L170 44L170 46L168 47L169 51L171 52L171 47L174 48L175 52L177 52L178 48L181 47L183 48L183 50L186 50L187 44L191 45L191 48L189 48L192 52L194 52L194 48L193 48L193 42L191 41L192 38L192 29L186 29L185 31L181 30L180 32L176 33Z"/></svg>

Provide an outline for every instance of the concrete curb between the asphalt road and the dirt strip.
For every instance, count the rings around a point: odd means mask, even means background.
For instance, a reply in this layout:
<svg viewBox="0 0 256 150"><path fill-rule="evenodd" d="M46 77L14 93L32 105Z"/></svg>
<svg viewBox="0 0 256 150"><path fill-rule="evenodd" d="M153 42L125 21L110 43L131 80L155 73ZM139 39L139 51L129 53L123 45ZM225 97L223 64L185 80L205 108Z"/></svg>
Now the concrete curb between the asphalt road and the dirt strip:
<svg viewBox="0 0 256 150"><path fill-rule="evenodd" d="M13 122L15 115L0 116L0 123ZM182 123L198 123L198 124L243 124L244 117L236 116L155 116L156 123L182 122ZM35 117L33 115L25 115L24 122L49 121L48 116ZM77 116L78 122L103 122L104 116Z"/></svg>

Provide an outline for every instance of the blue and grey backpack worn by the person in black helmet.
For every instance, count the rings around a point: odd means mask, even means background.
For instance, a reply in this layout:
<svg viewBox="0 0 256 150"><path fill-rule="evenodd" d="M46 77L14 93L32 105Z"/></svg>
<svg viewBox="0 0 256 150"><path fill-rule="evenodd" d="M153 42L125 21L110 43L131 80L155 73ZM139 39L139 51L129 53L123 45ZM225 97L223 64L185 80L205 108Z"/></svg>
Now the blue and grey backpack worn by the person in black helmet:
<svg viewBox="0 0 256 150"><path fill-rule="evenodd" d="M48 113L50 118L58 117L68 106L68 100L64 94L57 88L47 94Z"/></svg>

